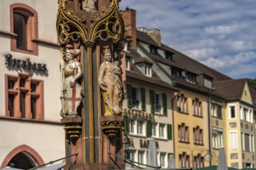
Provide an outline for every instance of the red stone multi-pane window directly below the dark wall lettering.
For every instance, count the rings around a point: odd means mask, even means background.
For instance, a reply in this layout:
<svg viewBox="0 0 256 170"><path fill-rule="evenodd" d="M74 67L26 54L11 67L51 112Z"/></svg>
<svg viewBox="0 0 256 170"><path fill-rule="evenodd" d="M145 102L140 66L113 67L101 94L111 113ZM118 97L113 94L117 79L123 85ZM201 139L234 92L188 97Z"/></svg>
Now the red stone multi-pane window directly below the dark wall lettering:
<svg viewBox="0 0 256 170"><path fill-rule="evenodd" d="M43 119L43 81L31 76L5 75L6 116Z"/></svg>

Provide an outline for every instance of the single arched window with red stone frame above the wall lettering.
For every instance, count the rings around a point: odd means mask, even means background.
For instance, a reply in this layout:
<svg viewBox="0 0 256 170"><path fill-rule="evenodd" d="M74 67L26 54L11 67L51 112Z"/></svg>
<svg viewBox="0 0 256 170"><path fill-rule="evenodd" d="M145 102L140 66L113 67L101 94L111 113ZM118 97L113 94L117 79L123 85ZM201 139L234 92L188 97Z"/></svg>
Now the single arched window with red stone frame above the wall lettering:
<svg viewBox="0 0 256 170"><path fill-rule="evenodd" d="M37 12L27 5L11 5L11 32L17 36L11 40L12 51L37 55Z"/></svg>

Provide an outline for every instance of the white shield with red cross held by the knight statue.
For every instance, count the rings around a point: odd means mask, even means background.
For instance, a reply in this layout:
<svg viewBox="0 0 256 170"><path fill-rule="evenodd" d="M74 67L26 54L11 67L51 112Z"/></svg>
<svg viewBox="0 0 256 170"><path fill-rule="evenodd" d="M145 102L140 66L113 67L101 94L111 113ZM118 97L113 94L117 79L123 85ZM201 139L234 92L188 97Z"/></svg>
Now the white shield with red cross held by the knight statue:
<svg viewBox="0 0 256 170"><path fill-rule="evenodd" d="M78 106L81 102L81 86L78 83L74 87L67 88L67 113L69 115L78 115Z"/></svg>

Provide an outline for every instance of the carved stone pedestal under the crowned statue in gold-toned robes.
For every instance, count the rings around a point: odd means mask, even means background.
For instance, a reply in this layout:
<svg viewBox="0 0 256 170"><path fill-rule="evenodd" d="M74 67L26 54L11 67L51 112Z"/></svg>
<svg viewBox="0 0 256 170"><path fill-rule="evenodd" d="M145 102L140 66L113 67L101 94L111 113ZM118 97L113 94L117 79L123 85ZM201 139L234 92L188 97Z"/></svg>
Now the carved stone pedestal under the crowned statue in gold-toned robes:
<svg viewBox="0 0 256 170"><path fill-rule="evenodd" d="M99 118L100 124L102 125L102 131L108 137L115 137L116 133L122 128L122 117L121 116L104 116Z"/></svg>

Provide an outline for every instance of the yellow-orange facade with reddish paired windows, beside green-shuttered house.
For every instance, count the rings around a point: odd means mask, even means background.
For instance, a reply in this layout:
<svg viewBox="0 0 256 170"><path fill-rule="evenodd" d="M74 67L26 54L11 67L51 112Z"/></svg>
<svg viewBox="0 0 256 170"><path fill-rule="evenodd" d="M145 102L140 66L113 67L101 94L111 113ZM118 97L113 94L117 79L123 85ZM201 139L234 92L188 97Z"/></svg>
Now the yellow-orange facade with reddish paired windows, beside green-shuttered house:
<svg viewBox="0 0 256 170"><path fill-rule="evenodd" d="M181 90L173 97L175 164L177 168L209 165L207 96ZM205 159L206 158L206 159ZM209 160L210 161L210 160Z"/></svg>

